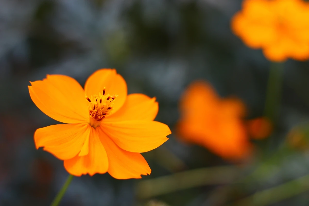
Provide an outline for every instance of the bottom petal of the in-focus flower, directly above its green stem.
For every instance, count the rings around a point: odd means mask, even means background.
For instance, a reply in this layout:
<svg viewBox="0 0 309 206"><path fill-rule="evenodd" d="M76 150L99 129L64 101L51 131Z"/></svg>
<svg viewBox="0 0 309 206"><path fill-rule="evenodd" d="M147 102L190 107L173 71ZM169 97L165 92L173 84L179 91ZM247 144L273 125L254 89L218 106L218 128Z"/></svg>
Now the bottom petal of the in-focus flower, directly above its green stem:
<svg viewBox="0 0 309 206"><path fill-rule="evenodd" d="M108 170L108 158L104 146L102 145L98 131L91 127L89 136L89 153L85 156L76 155L74 158L65 160L64 167L75 176L95 173L104 174Z"/></svg>

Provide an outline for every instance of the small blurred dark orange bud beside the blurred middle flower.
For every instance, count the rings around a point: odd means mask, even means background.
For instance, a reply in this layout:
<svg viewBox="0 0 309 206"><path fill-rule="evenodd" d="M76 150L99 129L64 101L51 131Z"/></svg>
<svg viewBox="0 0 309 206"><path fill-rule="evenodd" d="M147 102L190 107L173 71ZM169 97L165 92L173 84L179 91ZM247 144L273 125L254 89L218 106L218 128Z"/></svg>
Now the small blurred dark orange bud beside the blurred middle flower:
<svg viewBox="0 0 309 206"><path fill-rule="evenodd" d="M272 132L271 122L264 117L259 117L247 122L248 133L253 139L264 139Z"/></svg>

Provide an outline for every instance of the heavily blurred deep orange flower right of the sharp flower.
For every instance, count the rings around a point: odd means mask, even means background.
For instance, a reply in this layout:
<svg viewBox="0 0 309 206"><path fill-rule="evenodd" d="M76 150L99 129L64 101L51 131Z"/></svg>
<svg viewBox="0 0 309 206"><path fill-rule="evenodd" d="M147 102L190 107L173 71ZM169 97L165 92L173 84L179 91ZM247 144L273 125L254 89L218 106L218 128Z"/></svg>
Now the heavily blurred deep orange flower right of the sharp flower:
<svg viewBox="0 0 309 206"><path fill-rule="evenodd" d="M194 82L180 100L180 136L209 148L227 159L242 159L251 145L241 117L244 106L238 99L220 99L206 82Z"/></svg>

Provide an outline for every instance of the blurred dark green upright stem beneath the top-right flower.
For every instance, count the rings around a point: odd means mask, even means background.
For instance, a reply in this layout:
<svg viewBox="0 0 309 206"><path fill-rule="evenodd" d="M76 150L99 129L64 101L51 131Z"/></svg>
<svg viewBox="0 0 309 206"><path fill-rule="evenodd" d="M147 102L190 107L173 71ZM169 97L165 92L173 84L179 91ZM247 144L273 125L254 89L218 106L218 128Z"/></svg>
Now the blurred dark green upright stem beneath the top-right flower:
<svg viewBox="0 0 309 206"><path fill-rule="evenodd" d="M283 63L273 62L269 71L264 115L274 122L281 100Z"/></svg>

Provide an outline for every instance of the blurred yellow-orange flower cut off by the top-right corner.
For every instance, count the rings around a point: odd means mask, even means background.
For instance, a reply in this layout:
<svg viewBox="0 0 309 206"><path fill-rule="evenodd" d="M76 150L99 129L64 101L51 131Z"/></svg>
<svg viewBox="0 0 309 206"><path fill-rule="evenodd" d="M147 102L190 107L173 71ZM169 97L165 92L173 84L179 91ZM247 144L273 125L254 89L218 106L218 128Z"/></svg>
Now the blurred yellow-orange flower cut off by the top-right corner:
<svg viewBox="0 0 309 206"><path fill-rule="evenodd" d="M302 0L244 0L231 27L271 61L309 58L309 3Z"/></svg>

